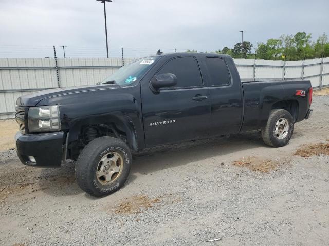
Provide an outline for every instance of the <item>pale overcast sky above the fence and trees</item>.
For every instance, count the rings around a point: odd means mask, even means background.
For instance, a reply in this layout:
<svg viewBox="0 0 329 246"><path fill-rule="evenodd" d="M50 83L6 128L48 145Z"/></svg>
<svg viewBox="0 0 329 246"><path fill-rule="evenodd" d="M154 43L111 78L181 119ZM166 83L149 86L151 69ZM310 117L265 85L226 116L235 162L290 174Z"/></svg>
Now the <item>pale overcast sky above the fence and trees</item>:
<svg viewBox="0 0 329 246"><path fill-rule="evenodd" d="M106 57L103 4L96 0L0 0L0 57ZM214 51L299 31L329 35L328 0L113 0L106 3L112 57Z"/></svg>

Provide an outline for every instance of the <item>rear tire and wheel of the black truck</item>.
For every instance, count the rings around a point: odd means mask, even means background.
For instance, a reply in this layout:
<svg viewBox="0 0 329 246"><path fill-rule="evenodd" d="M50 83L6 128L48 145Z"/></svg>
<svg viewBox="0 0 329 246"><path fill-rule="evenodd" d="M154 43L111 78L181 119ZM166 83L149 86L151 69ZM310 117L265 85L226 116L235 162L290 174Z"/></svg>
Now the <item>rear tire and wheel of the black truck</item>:
<svg viewBox="0 0 329 246"><path fill-rule="evenodd" d="M261 129L263 141L272 147L282 147L288 144L293 132L293 116L284 109L273 109L266 126Z"/></svg>

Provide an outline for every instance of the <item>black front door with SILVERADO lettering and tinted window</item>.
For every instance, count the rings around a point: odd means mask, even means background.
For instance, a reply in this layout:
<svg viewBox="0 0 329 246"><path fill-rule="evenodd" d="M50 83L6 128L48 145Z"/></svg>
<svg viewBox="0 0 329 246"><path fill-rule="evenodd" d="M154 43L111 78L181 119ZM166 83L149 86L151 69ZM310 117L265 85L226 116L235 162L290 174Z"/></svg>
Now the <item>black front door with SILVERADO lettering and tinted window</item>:
<svg viewBox="0 0 329 246"><path fill-rule="evenodd" d="M197 139L209 135L209 88L204 86L194 56L175 57L165 62L154 76L173 73L177 85L154 93L142 85L142 110L147 147Z"/></svg>

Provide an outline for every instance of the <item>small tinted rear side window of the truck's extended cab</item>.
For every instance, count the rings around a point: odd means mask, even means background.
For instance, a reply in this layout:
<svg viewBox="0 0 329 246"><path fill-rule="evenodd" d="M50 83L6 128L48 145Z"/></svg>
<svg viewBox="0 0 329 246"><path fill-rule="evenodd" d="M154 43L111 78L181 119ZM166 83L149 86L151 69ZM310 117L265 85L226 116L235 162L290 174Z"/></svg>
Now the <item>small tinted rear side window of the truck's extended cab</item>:
<svg viewBox="0 0 329 246"><path fill-rule="evenodd" d="M230 84L230 72L226 62L221 58L207 57L206 65L208 69L208 77L210 85L224 86Z"/></svg>

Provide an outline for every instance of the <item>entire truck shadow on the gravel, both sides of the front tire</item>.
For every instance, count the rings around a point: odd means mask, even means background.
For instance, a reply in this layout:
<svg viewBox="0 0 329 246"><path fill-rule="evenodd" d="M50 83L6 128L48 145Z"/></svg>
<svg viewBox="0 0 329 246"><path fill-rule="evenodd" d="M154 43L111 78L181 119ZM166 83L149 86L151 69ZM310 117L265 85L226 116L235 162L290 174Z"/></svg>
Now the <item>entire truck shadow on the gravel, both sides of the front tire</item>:
<svg viewBox="0 0 329 246"><path fill-rule="evenodd" d="M149 149L133 154L133 166L125 186L140 175L187 165L215 156L218 156L218 162L221 163L221 155L258 147L265 147L265 145L260 134L255 131L231 135L228 139L216 137ZM207 165L206 161L205 165ZM83 193L75 180L74 167L74 162L67 162L59 169L42 169L38 177L42 192L51 196L74 196ZM89 195L86 195L86 198L98 199Z"/></svg>

